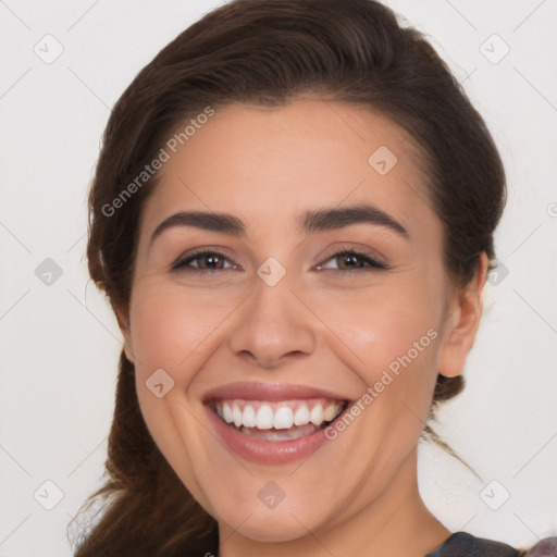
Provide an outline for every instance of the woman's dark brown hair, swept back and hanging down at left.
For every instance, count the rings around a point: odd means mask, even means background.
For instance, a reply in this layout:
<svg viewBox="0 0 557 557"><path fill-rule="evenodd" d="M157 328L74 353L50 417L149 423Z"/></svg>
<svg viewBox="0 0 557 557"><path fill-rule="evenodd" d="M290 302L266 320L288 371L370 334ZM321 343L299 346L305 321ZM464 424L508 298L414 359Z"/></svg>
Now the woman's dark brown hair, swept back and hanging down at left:
<svg viewBox="0 0 557 557"><path fill-rule="evenodd" d="M474 276L482 251L493 259L505 205L503 164L484 121L421 33L400 26L374 0L233 0L164 47L112 110L89 193L87 256L114 310L128 312L139 216L157 174L113 214L106 208L176 126L207 107L274 107L300 94L368 106L421 146L455 284ZM462 388L461 375L440 375L430 418ZM424 434L443 444L429 425ZM106 474L81 509L101 498L104 513L83 535L75 557L216 555L216 521L150 436L124 351Z"/></svg>

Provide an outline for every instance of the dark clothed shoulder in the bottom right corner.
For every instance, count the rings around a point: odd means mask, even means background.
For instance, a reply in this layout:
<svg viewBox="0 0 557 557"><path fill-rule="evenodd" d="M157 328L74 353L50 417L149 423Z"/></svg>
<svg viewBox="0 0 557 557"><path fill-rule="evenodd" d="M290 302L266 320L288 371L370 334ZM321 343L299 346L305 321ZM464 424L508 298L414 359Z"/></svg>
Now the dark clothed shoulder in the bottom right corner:
<svg viewBox="0 0 557 557"><path fill-rule="evenodd" d="M424 557L557 557L557 536L545 537L530 549L455 532L441 546Z"/></svg>

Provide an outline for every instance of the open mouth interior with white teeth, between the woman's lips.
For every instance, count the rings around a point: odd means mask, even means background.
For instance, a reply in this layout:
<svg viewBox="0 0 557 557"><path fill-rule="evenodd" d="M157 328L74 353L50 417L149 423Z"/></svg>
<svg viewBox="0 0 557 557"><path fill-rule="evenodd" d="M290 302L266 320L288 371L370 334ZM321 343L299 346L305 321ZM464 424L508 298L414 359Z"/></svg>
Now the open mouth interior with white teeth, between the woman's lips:
<svg viewBox="0 0 557 557"><path fill-rule="evenodd" d="M347 400L325 398L281 401L214 400L210 408L244 435L262 441L292 441L312 435L335 421Z"/></svg>

